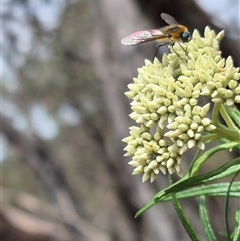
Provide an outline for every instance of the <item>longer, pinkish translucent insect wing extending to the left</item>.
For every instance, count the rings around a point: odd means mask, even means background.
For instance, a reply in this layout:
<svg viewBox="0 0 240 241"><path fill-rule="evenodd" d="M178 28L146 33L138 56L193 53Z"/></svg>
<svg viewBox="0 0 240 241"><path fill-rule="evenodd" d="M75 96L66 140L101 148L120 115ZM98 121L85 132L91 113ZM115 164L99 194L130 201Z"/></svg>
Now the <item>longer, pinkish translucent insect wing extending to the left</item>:
<svg viewBox="0 0 240 241"><path fill-rule="evenodd" d="M136 45L141 44L147 41L153 41L164 37L162 31L158 29L153 30L143 30L135 32L128 37L122 39L121 43L123 45Z"/></svg>

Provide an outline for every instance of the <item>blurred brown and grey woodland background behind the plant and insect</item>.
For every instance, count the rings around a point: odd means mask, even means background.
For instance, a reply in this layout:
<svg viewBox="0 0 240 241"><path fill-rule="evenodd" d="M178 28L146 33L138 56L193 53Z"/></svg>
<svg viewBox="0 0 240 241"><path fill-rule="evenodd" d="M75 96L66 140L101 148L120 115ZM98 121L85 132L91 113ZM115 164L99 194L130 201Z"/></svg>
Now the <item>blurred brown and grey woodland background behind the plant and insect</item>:
<svg viewBox="0 0 240 241"><path fill-rule="evenodd" d="M165 12L190 31L224 29L222 54L237 67L239 0L2 0L0 9L2 240L189 240L171 203L134 218L167 186L163 175L153 184L132 176L121 141L133 124L124 92L157 44L120 41L165 26ZM231 202L234 225L240 201ZM208 204L221 232L224 200ZM183 205L202 234L198 200Z"/></svg>

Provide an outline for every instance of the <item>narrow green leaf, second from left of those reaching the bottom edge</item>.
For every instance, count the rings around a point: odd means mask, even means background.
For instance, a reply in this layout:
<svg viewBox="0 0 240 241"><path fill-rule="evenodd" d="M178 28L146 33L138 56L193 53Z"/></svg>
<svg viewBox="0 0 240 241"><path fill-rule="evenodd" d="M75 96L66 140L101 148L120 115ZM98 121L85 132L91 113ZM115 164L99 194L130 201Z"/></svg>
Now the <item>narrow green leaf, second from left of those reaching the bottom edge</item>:
<svg viewBox="0 0 240 241"><path fill-rule="evenodd" d="M207 240L217 241L217 238L213 232L213 229L210 223L210 219L206 208L205 197L203 195L200 197L199 214L200 214L200 220L202 222L204 233L207 237Z"/></svg>

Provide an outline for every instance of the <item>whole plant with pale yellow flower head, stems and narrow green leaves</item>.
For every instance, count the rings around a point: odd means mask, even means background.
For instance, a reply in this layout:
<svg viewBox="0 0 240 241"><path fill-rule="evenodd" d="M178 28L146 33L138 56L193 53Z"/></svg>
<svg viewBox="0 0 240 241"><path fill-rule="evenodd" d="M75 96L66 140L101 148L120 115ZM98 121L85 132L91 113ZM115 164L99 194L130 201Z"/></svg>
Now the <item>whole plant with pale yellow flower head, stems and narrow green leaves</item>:
<svg viewBox="0 0 240 241"><path fill-rule="evenodd" d="M217 35L208 27L204 37L195 30L187 45L175 44L162 62L156 58L138 69L138 77L129 84L126 96L132 99L130 117L136 126L130 127L126 156L133 174L142 174L142 181L153 182L160 173L169 174L169 187L156 194L136 216L160 202L172 201L192 240L199 240L186 218L179 199L200 197L200 217L208 240L216 240L205 205L206 196L240 198L240 182L213 183L221 178L237 175L240 157L227 161L215 170L200 174L209 158L222 150L240 152L240 73L231 57L221 57L219 43L224 32ZM202 104L202 98L207 103ZM211 108L212 105L212 108ZM223 119L223 121L220 121ZM206 144L219 145L205 150ZM197 147L198 151L183 176L183 154ZM181 178L172 182L172 174ZM228 240L240 240L240 217Z"/></svg>

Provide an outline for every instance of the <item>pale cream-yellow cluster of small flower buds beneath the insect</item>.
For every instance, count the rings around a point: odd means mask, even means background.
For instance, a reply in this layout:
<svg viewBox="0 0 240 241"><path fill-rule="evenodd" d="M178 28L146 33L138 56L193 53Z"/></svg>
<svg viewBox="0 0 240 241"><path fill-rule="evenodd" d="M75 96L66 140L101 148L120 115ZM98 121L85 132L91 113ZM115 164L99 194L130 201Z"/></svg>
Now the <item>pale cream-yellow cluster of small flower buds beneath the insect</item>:
<svg viewBox="0 0 240 241"><path fill-rule="evenodd" d="M219 51L223 35L208 27L204 37L194 31L192 40L175 44L162 63L146 60L128 85L130 117L138 126L123 139L124 150L132 156L133 174L143 174L143 181L153 182L160 172L181 175L182 154L194 146L204 149L204 133L216 126L208 117L210 103L202 106L201 96L227 106L240 103L239 68Z"/></svg>

